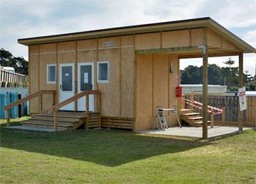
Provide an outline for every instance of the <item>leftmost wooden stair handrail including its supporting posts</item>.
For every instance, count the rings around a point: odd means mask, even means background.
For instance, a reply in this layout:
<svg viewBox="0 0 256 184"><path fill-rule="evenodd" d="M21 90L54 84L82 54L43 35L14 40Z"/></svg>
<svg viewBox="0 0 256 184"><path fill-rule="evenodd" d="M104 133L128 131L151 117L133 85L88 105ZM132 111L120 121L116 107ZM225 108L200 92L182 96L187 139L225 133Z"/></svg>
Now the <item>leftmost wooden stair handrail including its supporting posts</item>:
<svg viewBox="0 0 256 184"><path fill-rule="evenodd" d="M7 127L10 126L10 109L11 108L14 108L16 105L20 105L21 103L24 103L28 100L32 100L33 98L36 98L38 96L40 96L40 103L41 103L41 110L42 110L42 107L43 107L43 103L42 103L42 96L45 95L45 94L53 94L53 105L55 105L55 94L56 94L56 91L55 90L42 90L42 91L38 91L36 93L33 93L25 98L22 98L21 100L18 100L14 103L10 103L9 105L6 105L4 106L4 110L6 110L6 125Z"/></svg>

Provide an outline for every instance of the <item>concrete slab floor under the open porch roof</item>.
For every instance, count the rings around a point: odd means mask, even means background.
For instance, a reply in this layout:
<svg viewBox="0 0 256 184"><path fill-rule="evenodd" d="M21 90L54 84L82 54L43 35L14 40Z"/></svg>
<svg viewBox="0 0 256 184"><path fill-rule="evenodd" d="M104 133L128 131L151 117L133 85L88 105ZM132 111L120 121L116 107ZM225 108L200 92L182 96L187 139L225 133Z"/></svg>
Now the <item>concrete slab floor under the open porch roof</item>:
<svg viewBox="0 0 256 184"><path fill-rule="evenodd" d="M252 128L243 128L243 130L250 129ZM203 127L169 127L166 130L143 130L139 131L139 133L202 138ZM208 138L226 136L230 134L238 134L238 127L214 126L213 128L210 128L210 126L208 126Z"/></svg>

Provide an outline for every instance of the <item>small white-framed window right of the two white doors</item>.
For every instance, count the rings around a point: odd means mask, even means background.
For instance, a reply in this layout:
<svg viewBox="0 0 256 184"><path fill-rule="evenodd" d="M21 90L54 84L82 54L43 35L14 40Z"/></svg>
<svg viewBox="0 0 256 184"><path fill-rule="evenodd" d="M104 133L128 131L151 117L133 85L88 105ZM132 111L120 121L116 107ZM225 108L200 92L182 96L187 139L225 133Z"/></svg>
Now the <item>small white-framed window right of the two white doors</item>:
<svg viewBox="0 0 256 184"><path fill-rule="evenodd" d="M97 62L97 81L98 83L109 82L109 62Z"/></svg>

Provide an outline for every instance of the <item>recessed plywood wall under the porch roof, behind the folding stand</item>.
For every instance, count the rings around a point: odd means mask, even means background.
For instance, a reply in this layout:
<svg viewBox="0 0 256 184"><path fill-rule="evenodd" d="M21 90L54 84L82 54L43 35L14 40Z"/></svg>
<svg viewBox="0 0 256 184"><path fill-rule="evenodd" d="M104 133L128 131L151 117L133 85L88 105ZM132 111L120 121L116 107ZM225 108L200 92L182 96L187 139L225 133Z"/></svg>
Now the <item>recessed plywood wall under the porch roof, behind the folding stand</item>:
<svg viewBox="0 0 256 184"><path fill-rule="evenodd" d="M174 64L174 73L169 72ZM137 54L137 131L151 129L156 106L170 108L177 105L175 97L178 79L178 56L169 54ZM166 114L169 118L169 113ZM172 125L176 125L173 116Z"/></svg>

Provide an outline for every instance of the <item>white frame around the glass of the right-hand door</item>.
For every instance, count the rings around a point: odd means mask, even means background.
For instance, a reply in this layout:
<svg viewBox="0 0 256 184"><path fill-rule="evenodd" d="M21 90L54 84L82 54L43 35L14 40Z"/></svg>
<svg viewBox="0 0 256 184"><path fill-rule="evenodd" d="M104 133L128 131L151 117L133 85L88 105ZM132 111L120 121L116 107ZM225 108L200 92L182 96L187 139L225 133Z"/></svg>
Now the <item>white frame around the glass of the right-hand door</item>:
<svg viewBox="0 0 256 184"><path fill-rule="evenodd" d="M94 77L94 62L78 62L78 93L81 93L82 91L80 91L80 74L81 74L81 66L92 66L92 90L95 89L95 77ZM94 100L94 95L89 95L89 100L93 99L93 103L92 103L92 109L95 108L95 100ZM78 110L80 109L79 107L79 103L78 103ZM90 108L89 108L90 109Z"/></svg>

